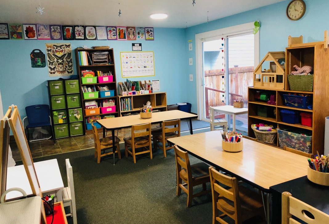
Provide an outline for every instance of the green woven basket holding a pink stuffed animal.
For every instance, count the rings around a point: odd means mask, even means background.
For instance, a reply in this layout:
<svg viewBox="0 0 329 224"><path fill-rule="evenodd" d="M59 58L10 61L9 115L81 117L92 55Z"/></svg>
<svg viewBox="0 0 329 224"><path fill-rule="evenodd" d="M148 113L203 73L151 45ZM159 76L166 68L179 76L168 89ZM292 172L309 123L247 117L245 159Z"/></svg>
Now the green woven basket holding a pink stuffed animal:
<svg viewBox="0 0 329 224"><path fill-rule="evenodd" d="M313 92L314 75L287 75L287 78L290 90Z"/></svg>

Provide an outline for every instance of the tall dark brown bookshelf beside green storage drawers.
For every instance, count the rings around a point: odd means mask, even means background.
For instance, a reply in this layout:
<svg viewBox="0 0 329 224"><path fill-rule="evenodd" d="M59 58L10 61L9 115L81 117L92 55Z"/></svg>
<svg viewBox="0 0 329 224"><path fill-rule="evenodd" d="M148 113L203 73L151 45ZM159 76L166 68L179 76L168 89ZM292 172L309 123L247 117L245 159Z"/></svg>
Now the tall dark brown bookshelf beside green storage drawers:
<svg viewBox="0 0 329 224"><path fill-rule="evenodd" d="M109 56L111 57L112 60L112 64L106 64L106 65L79 65L79 52L80 51L87 51L90 55L90 58L92 60L92 53L97 52L97 51L107 51L109 52ZM99 98L94 98L94 99L84 99L83 97L83 93L81 94L81 102L82 102L82 107L84 108L85 101L88 100L96 100L97 102L101 102L102 100L105 99L114 99L115 101L115 107L116 107L116 112L111 112L111 113L100 113L100 114L95 114L95 115L100 115L101 118L104 118L105 115L114 115L115 117L119 116L119 103L118 103L118 99L117 99L117 91L116 91L116 76L115 76L115 63L114 63L114 51L113 48L111 49L103 49L103 50L98 50L98 49L83 49L83 48L76 48L75 49L75 60L76 60L76 65L77 65L77 73L79 75L79 85L80 85L80 90L82 88L82 86L108 86L110 90L114 90L114 96L111 97L99 97ZM96 83L96 84L82 84L81 81L81 71L83 70L91 70L95 72L95 76L97 76L97 71L102 71L104 73L106 72L112 72L113 75L113 82L107 82L107 83ZM86 130L86 134L90 134L92 133L92 130L87 130L86 127L86 118L90 117L90 116L94 116L94 115L86 115L85 112L83 112L83 118L84 118L84 125L85 125L85 130ZM102 132L103 129L99 128L98 132Z"/></svg>

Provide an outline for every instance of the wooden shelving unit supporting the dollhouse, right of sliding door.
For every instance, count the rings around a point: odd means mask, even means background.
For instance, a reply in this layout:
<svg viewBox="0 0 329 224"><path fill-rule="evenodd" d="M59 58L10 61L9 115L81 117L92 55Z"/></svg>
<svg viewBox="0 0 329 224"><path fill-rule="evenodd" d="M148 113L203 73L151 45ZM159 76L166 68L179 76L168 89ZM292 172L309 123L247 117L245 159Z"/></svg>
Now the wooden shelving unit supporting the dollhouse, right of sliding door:
<svg viewBox="0 0 329 224"><path fill-rule="evenodd" d="M294 127L302 130L308 130L312 132L312 153L320 154L324 152L324 121L325 117L329 115L329 49L324 48L323 44L310 43L310 45L303 44L303 46L296 46L286 48L286 74L290 74L291 71L295 71L294 65L302 67L304 65L310 65L314 68L314 82L313 92L301 92L291 91L289 89L288 79L285 79L285 90L264 90L261 88L249 87L248 89L248 134L250 137L255 137L254 132L251 129L251 124L266 122L272 124L277 128ZM266 102L255 99L256 91L270 91L275 95L276 105L268 105ZM293 107L287 107L283 103L283 94L287 93L305 93L310 94L313 98L313 109L299 109ZM260 117L257 116L257 106L264 105L276 109L276 113L273 117ZM290 109L299 112L308 112L313 115L312 127L304 126L301 124L288 124L281 120L280 110ZM277 139L275 146L279 147L279 139Z"/></svg>

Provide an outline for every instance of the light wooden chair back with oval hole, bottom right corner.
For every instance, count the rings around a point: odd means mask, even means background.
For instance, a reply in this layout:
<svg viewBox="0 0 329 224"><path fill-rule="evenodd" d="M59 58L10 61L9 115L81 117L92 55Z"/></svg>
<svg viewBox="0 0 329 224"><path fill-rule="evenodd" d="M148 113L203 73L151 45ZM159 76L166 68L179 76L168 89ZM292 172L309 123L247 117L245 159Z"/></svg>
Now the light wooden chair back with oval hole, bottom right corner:
<svg viewBox="0 0 329 224"><path fill-rule="evenodd" d="M300 224L291 215L309 224L329 223L329 215L291 196L282 193L282 224Z"/></svg>

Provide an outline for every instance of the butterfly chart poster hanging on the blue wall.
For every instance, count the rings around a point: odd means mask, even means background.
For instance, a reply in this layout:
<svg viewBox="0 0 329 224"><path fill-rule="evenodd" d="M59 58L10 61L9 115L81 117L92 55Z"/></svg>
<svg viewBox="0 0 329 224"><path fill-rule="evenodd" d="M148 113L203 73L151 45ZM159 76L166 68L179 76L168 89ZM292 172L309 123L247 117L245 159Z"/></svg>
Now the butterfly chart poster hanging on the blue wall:
<svg viewBox="0 0 329 224"><path fill-rule="evenodd" d="M46 44L49 76L67 76L73 73L70 43Z"/></svg>

